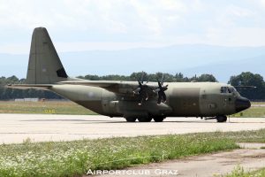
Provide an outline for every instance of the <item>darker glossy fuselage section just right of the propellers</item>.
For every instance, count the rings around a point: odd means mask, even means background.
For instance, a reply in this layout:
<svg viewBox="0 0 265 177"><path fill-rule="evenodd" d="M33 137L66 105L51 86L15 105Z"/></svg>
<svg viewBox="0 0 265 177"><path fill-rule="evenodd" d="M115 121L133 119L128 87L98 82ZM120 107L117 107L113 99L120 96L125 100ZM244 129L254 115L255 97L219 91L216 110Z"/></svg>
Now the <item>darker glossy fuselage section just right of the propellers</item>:
<svg viewBox="0 0 265 177"><path fill-rule="evenodd" d="M175 88L170 96L172 116L199 116L200 88Z"/></svg>

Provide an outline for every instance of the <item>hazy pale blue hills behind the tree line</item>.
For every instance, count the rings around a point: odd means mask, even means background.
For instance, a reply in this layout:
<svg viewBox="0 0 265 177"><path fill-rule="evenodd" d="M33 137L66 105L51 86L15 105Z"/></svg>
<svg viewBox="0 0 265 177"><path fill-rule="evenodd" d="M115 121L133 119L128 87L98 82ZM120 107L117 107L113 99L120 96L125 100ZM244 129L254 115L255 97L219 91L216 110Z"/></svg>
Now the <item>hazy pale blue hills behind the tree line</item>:
<svg viewBox="0 0 265 177"><path fill-rule="evenodd" d="M221 47L211 45L174 45L132 50L87 50L59 53L69 75L179 73L188 76L213 73L218 81L245 71L261 73L265 47ZM0 76L26 77L28 55L0 54Z"/></svg>

